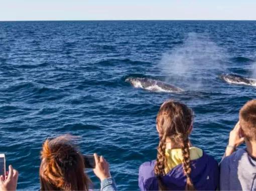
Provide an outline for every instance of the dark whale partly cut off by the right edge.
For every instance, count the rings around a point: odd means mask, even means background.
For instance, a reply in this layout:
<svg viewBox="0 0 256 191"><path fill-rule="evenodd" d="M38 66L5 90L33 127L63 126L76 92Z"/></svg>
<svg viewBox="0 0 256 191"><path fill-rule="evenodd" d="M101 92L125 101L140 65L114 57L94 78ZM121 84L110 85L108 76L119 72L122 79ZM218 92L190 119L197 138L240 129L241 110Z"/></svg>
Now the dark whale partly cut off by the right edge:
<svg viewBox="0 0 256 191"><path fill-rule="evenodd" d="M256 86L256 79L244 77L237 74L221 74L220 78L228 83Z"/></svg>

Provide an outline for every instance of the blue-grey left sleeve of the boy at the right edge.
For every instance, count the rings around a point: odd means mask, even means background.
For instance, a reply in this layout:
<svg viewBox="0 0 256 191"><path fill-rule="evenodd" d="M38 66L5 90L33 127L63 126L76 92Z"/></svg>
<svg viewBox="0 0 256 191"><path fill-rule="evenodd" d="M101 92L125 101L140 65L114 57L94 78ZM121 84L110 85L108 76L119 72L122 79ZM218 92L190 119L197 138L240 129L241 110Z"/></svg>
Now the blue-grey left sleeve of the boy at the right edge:
<svg viewBox="0 0 256 191"><path fill-rule="evenodd" d="M229 190L230 166L228 158L225 157L220 162L219 190Z"/></svg>

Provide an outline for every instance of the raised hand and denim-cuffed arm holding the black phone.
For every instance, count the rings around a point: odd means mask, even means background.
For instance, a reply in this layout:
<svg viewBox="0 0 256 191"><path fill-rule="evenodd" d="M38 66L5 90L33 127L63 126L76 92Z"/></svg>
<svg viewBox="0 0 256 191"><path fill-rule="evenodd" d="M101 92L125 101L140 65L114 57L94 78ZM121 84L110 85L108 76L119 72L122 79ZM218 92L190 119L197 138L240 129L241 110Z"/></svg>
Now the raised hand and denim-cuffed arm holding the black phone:
<svg viewBox="0 0 256 191"><path fill-rule="evenodd" d="M100 179L100 190L101 191L115 191L116 184L114 179L111 177L109 172L108 162L103 158L103 156L98 157L96 153L94 153L95 159L95 168L93 172Z"/></svg>

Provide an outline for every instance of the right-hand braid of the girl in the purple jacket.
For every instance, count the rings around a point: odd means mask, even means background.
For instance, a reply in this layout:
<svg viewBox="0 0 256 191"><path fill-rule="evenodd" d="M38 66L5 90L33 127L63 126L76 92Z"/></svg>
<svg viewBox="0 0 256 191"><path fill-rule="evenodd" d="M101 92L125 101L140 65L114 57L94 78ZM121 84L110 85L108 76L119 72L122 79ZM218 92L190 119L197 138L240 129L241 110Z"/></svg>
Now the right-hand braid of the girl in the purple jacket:
<svg viewBox="0 0 256 191"><path fill-rule="evenodd" d="M190 167L190 152L189 152L189 139L187 135L183 135L183 141L181 143L181 150L183 156L183 169L184 173L187 176L187 184L185 186L185 190L195 190L193 182L190 178L191 167Z"/></svg>

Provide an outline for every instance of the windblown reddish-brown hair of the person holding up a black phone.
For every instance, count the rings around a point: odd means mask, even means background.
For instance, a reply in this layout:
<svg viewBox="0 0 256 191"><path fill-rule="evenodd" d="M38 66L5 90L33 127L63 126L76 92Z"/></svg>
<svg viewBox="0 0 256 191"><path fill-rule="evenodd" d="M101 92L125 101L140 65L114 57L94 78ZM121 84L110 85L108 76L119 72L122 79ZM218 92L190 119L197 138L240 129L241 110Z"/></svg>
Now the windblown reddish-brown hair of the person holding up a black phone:
<svg viewBox="0 0 256 191"><path fill-rule="evenodd" d="M41 190L88 190L83 156L70 135L47 139L41 151Z"/></svg>

